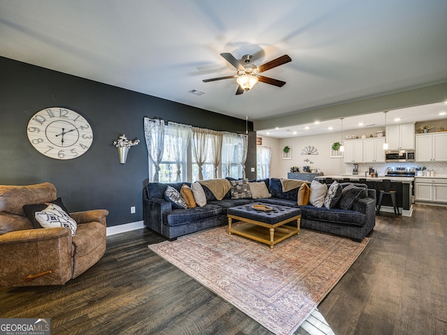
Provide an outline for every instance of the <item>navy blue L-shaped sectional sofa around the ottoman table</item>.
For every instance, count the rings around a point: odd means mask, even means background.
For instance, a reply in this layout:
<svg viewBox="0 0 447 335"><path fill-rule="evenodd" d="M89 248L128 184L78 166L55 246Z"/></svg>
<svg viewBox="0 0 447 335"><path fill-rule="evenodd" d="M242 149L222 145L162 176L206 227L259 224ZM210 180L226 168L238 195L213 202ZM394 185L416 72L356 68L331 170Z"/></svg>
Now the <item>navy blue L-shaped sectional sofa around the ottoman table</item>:
<svg viewBox="0 0 447 335"><path fill-rule="evenodd" d="M217 200L213 193L203 186L207 198L207 204L203 207L188 209L174 209L171 202L164 199L163 195L168 186L180 191L183 184L190 183L149 183L143 191L143 220L145 226L168 239L175 239L185 234L191 234L207 228L214 228L228 223L227 209L252 202L267 204L279 204L301 209L301 227L321 232L328 232L356 241L361 241L372 232L376 220L376 190L368 189L365 197L353 204L353 209L344 210L312 205L298 206L298 188L288 192L282 191L280 179L263 179L272 198L265 199L231 199L231 193L225 195L222 200ZM346 186L351 183L344 183ZM367 187L364 184L356 186Z"/></svg>

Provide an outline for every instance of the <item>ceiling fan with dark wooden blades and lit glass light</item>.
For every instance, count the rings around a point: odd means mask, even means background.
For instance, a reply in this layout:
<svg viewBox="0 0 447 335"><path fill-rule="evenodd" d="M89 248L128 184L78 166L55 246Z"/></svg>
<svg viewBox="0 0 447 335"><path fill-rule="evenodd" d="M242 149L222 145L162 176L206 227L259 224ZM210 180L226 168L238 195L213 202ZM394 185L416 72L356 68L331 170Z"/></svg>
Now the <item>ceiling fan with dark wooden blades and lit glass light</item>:
<svg viewBox="0 0 447 335"><path fill-rule="evenodd" d="M248 91L254 85L259 82L265 82L265 84L274 85L277 87L283 87L286 82L281 80L273 79L270 77L265 77L263 75L259 75L259 73L263 73L266 70L270 70L270 68L276 68L282 64L286 64L289 61L292 61L291 57L288 57L287 54L284 54L277 59L273 59L272 61L268 61L267 63L256 66L250 63L251 54L245 54L242 59L244 59L244 63L242 64L240 61L235 59L233 54L228 52L224 52L221 56L228 61L231 65L233 65L237 69L236 75L227 75L226 77L217 77L211 79L205 79L203 82L214 82L216 80L230 79L236 78L237 87L236 95L244 93L244 91Z"/></svg>

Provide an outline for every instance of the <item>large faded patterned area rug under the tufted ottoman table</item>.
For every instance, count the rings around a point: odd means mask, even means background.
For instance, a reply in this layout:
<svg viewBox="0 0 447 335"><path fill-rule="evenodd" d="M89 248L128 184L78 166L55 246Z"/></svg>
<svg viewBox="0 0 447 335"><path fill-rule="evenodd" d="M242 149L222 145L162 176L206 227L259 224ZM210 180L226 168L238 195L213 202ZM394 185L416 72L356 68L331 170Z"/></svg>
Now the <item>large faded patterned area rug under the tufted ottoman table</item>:
<svg viewBox="0 0 447 335"><path fill-rule="evenodd" d="M221 227L149 245L274 334L293 334L369 242L301 230L274 249Z"/></svg>

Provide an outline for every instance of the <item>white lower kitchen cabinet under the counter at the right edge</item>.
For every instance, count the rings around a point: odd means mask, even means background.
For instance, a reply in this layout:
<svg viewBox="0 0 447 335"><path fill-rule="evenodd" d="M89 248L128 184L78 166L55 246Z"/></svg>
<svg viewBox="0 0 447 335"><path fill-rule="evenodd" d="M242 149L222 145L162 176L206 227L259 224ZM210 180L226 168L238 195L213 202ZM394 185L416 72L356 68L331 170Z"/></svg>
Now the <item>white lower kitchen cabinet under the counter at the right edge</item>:
<svg viewBox="0 0 447 335"><path fill-rule="evenodd" d="M447 203L446 178L416 177L414 188L416 201Z"/></svg>

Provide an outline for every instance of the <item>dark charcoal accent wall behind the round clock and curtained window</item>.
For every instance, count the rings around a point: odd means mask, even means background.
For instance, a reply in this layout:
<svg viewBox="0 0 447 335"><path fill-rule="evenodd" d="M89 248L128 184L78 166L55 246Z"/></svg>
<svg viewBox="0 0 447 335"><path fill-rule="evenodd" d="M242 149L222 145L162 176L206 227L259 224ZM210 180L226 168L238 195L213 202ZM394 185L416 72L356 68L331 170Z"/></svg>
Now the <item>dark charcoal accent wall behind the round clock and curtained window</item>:
<svg viewBox="0 0 447 335"><path fill-rule="evenodd" d="M147 184L143 117L216 131L245 132L245 120L86 80L0 57L0 184L49 181L69 211L108 209L108 226L142 220ZM61 161L40 154L28 141L29 119L45 107L66 107L91 124L94 142L79 158ZM249 122L247 177L254 179L256 133ZM122 134L141 142L119 164L112 142ZM130 214L135 206L136 214Z"/></svg>

